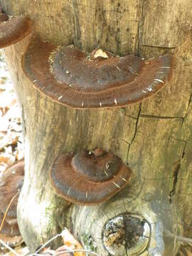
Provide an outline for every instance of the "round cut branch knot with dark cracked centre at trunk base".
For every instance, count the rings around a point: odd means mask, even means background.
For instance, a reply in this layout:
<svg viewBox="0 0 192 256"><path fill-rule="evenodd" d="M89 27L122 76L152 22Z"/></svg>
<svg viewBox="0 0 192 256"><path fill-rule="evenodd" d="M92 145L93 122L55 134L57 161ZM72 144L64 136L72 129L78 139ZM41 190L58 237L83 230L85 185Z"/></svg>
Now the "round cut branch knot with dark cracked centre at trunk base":
<svg viewBox="0 0 192 256"><path fill-rule="evenodd" d="M141 215L118 215L107 221L103 242L110 255L141 255L149 246L151 226Z"/></svg>

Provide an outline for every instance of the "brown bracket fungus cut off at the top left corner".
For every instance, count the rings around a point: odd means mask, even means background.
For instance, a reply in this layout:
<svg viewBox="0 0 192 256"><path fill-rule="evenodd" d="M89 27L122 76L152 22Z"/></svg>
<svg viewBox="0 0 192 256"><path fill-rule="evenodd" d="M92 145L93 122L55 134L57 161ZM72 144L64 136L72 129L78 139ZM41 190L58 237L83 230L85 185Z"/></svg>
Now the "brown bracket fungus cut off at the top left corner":
<svg viewBox="0 0 192 256"><path fill-rule="evenodd" d="M31 33L31 21L27 16L9 18L0 9L0 48L11 46Z"/></svg>

